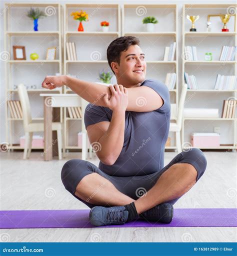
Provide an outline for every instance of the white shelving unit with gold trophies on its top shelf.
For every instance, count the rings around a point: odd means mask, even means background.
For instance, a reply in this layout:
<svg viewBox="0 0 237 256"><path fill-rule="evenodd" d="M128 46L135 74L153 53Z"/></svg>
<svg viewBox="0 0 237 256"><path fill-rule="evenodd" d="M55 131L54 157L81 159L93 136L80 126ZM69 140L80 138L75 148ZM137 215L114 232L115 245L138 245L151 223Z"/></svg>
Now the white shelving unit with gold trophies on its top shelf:
<svg viewBox="0 0 237 256"><path fill-rule="evenodd" d="M197 47L197 61L182 59L182 84L184 72L196 75L200 89L188 89L186 104L184 107L218 108L222 112L222 103L228 97L236 97L237 90L215 90L214 83L217 73L224 75L237 75L237 61L220 61L219 55L222 45L237 45L237 19L231 16L227 27L228 32L222 32L223 23L220 18L211 17L211 31L206 31L205 22L208 14L225 14L229 6L235 4L184 4L182 9L182 52L184 46ZM199 15L200 19L195 22L197 31L189 31L191 22L186 15ZM204 52L212 52L213 60L205 61ZM189 99L189 100L188 100ZM202 105L198 105L200 102ZM214 127L220 127L220 146L202 149L236 149L236 117L235 118L184 118L182 125L182 145L190 144L191 132L213 132ZM185 132L184 132L185 130ZM225 132L222 132L225 130ZM185 134L185 135L184 135ZM221 134L226 134L225 137Z"/></svg>

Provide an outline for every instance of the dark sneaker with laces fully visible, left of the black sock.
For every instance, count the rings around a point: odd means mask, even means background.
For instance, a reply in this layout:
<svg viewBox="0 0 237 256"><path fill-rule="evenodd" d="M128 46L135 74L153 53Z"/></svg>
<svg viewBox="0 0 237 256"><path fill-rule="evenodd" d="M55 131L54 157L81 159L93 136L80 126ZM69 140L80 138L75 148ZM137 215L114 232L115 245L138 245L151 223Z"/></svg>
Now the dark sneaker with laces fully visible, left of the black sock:
<svg viewBox="0 0 237 256"><path fill-rule="evenodd" d="M89 212L89 221L95 226L110 224L124 224L128 217L128 211L124 206L103 207L94 206Z"/></svg>

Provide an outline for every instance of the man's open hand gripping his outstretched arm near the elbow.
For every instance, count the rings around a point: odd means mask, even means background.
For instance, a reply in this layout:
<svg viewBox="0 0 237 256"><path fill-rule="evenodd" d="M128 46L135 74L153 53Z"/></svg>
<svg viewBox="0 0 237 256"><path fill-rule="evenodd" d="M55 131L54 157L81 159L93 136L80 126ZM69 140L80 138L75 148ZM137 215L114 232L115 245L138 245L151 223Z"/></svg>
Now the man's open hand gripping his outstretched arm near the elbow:
<svg viewBox="0 0 237 256"><path fill-rule="evenodd" d="M109 89L112 94L111 97L108 99L108 93L105 93L103 96L106 107L110 108L112 111L121 110L125 112L128 104L127 89L121 84L109 85Z"/></svg>

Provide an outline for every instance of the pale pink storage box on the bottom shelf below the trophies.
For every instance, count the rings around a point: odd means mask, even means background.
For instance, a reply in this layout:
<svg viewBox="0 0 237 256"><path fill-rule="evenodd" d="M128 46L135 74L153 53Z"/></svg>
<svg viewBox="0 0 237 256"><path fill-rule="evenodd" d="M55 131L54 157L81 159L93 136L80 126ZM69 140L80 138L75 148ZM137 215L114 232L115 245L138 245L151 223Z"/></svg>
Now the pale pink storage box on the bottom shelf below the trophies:
<svg viewBox="0 0 237 256"><path fill-rule="evenodd" d="M191 134L191 145L193 147L200 147L200 148L219 146L219 133L193 132Z"/></svg>

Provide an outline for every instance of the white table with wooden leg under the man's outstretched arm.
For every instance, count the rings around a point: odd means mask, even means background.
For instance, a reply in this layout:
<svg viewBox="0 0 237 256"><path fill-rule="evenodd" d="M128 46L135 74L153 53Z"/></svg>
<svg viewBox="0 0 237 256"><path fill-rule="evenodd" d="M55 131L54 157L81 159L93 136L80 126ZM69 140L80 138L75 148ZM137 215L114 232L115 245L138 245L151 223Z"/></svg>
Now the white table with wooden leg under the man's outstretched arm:
<svg viewBox="0 0 237 256"><path fill-rule="evenodd" d="M56 93L40 93L41 97L44 98L44 160L51 160L52 156L57 153L57 144L51 143L52 135L52 120L56 120L56 117L53 116L53 108L55 107L70 107L70 106L80 106L82 117L81 117L81 132L82 132L82 149L81 149L81 159L85 160L87 153L87 137L86 137L86 129L84 126L84 110L88 102L78 96L77 94L56 94ZM57 139L55 138L55 141ZM65 136L64 142L65 146ZM56 155L56 154L55 154Z"/></svg>

